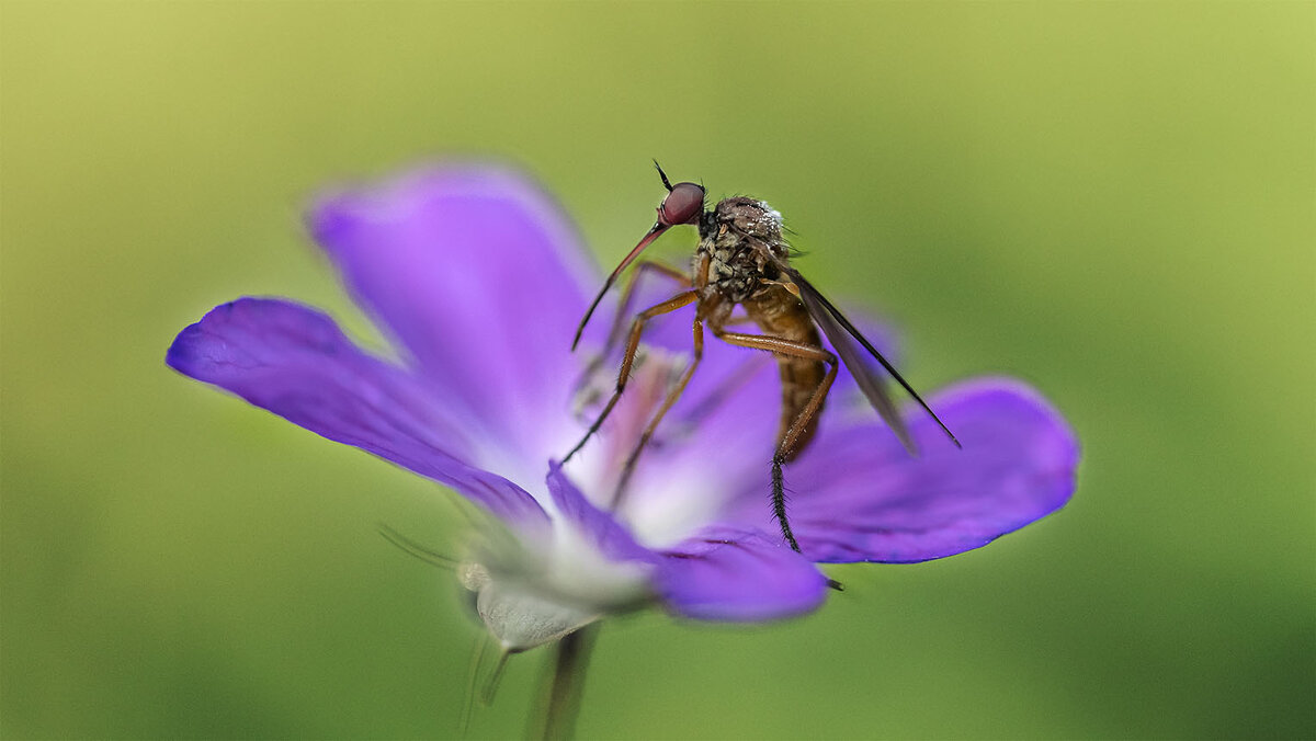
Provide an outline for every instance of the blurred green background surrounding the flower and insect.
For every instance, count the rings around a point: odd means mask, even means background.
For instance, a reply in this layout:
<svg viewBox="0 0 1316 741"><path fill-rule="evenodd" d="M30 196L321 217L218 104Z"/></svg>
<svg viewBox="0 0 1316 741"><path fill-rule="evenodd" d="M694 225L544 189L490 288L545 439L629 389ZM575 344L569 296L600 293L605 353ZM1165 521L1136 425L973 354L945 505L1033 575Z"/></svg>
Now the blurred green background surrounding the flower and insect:
<svg viewBox="0 0 1316 741"><path fill-rule="evenodd" d="M374 530L442 549L449 496L163 365L245 294L378 341L300 208L454 153L608 266L650 157L766 197L916 386L1084 444L1059 515L807 619L607 624L583 737L1316 734L1312 3L5 1L0 75L5 737L457 733L479 633Z"/></svg>

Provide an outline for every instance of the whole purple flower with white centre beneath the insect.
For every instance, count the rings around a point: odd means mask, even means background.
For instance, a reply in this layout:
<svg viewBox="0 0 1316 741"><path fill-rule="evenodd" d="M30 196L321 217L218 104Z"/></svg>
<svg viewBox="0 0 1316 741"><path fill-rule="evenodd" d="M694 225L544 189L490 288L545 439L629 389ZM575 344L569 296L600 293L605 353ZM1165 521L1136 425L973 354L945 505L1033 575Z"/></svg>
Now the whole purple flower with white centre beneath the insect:
<svg viewBox="0 0 1316 741"><path fill-rule="evenodd" d="M1074 490L1074 434L1019 382L933 395L963 450L913 415L917 458L871 409L845 404L842 386L787 469L795 553L769 508L776 374L766 355L713 341L615 503L621 461L684 362L690 315L654 326L621 404L562 470L551 461L592 419L587 391L605 391L616 365L584 374L605 321L570 351L600 276L542 191L507 170L437 167L325 197L309 222L400 361L365 353L315 309L247 297L184 329L167 362L483 508L501 528L461 578L505 650L651 603L701 620L804 613L828 594L813 562L953 555Z"/></svg>

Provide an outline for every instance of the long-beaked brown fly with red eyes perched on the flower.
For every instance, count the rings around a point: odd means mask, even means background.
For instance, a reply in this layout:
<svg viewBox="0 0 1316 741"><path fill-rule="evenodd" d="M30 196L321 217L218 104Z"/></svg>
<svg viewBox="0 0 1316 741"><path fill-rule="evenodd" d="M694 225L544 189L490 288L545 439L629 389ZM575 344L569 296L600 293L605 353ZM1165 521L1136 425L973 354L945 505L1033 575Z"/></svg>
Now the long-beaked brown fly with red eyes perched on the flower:
<svg viewBox="0 0 1316 741"><path fill-rule="evenodd" d="M959 441L955 440L950 429L900 372L882 357L882 353L845 319L832 301L826 300L791 266L790 247L782 236L780 213L761 200L744 196L722 199L717 205L705 211L703 186L688 182L672 186L662 167L657 162L654 166L658 167L658 176L662 178L662 184L667 188L667 196L658 205L658 220L630 250L630 254L608 275L603 290L599 291L580 320L571 347L575 349L580 342L580 334L590 322L590 317L617 276L667 229L686 224L699 228L699 246L692 261L692 270L690 275L686 275L657 262L641 261L637 263L636 274L641 270L654 270L675 280L683 290L671 299L636 315L630 324L616 390L580 442L567 453L565 461L580 450L590 436L599 430L625 391L645 324L654 317L690 304L695 304L694 354L645 428L626 462L628 473L653 436L658 422L676 403L694 376L703 357L705 329L722 342L766 350L772 353L776 359L782 382L782 417L776 434L776 449L771 459L772 515L782 528L786 542L796 551L800 550L800 546L795 540L795 533L791 532L786 513L782 466L797 457L817 432L819 412L821 412L828 391L832 388L832 382L836 380L837 355L840 355L840 362L844 362L854 375L869 403L891 426L911 454L916 454L913 440L887 395L884 378L874 366L874 361L936 420L950 441L957 447L959 446ZM632 280L626 290L626 297L622 299L622 307L629 304L629 292L634 286L636 282ZM733 317L737 305L744 308L745 319L758 325L761 333L749 334L726 329L728 325L737 321ZM620 319L622 319L621 315L619 315ZM836 349L836 354L822 346L819 329Z"/></svg>

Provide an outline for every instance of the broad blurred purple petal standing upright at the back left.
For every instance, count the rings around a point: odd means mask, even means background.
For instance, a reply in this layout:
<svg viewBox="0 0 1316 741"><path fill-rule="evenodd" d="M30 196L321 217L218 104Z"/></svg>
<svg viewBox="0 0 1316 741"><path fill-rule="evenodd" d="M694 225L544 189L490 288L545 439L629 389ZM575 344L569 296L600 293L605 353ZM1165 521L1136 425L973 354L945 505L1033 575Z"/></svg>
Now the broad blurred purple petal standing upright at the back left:
<svg viewBox="0 0 1316 741"><path fill-rule="evenodd" d="M432 168L322 199L309 222L446 404L536 454L569 437L554 425L567 424L571 336L597 278L538 187L492 167Z"/></svg>

